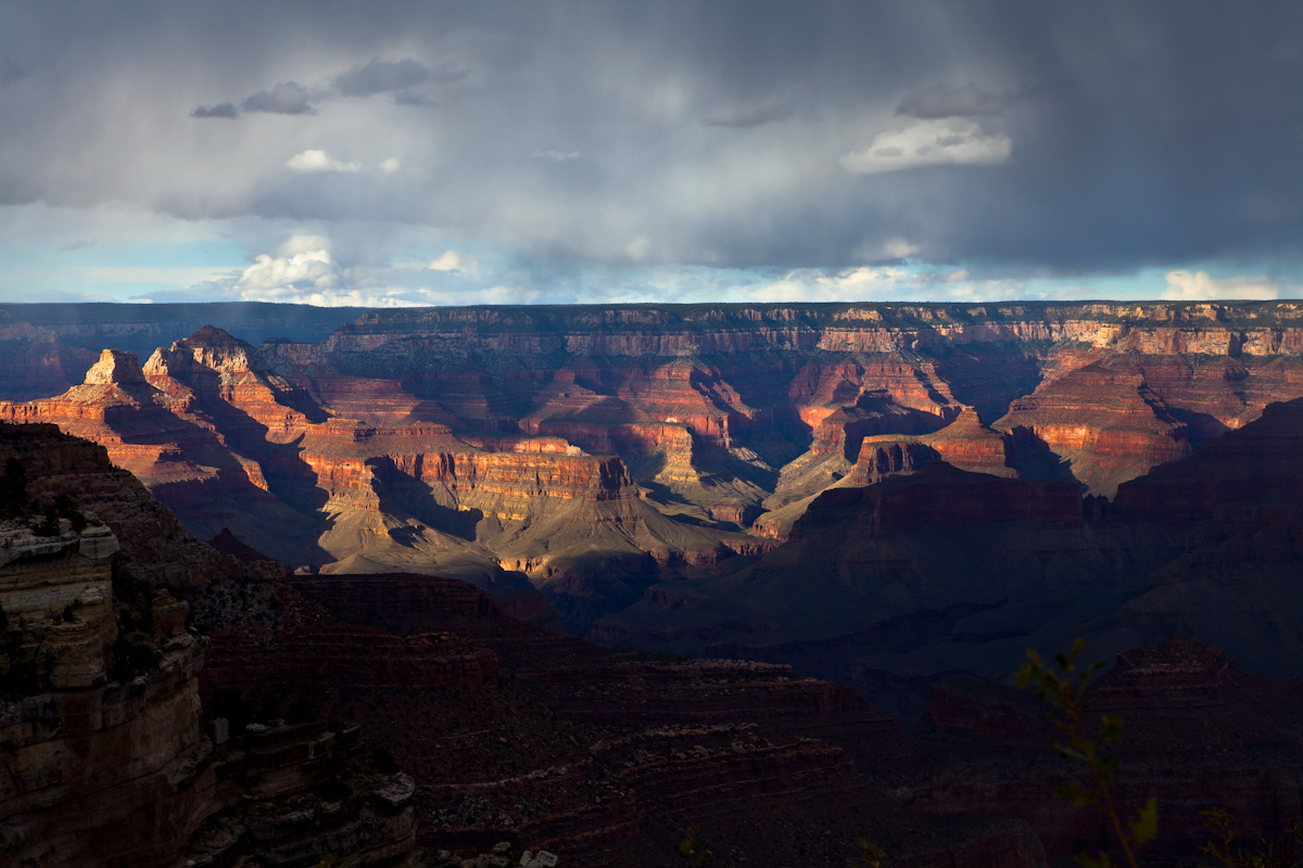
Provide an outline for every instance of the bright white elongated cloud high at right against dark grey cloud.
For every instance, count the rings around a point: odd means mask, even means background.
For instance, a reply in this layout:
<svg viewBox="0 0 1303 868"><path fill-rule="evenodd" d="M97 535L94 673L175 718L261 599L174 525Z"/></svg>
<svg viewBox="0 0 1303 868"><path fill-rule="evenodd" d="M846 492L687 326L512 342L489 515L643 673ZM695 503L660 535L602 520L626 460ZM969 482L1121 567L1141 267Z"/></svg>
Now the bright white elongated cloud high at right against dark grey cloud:
<svg viewBox="0 0 1303 868"><path fill-rule="evenodd" d="M878 133L869 147L843 156L842 167L856 174L873 174L920 165L1001 165L1009 163L1012 152L1012 139L1003 133L986 133L976 121L920 120L904 129Z"/></svg>

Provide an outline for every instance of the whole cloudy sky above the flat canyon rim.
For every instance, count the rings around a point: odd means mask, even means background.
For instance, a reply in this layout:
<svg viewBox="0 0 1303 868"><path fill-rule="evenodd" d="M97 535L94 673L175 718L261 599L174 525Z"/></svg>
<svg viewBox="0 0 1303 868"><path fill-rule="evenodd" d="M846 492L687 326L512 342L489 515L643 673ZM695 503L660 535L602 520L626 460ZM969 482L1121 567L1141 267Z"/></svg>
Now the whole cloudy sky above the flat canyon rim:
<svg viewBox="0 0 1303 868"><path fill-rule="evenodd" d="M0 4L0 301L1303 295L1303 4Z"/></svg>

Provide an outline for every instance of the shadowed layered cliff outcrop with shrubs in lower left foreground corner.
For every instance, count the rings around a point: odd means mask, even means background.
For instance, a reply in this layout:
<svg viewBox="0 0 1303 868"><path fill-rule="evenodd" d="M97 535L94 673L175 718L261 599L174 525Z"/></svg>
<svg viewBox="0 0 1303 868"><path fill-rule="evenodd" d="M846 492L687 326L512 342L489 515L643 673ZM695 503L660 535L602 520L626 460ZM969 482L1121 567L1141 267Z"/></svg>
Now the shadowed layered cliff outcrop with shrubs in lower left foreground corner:
<svg viewBox="0 0 1303 868"><path fill-rule="evenodd" d="M94 471L130 479L94 461L102 448L46 427L0 435L38 506ZM0 860L308 867L334 851L416 868L410 780L358 766L356 727L201 721L205 639L185 601L141 578L179 571L133 565L149 549L120 548L103 524L73 530L86 521L74 514L0 524ZM179 540L182 560L188 543L201 545Z"/></svg>

